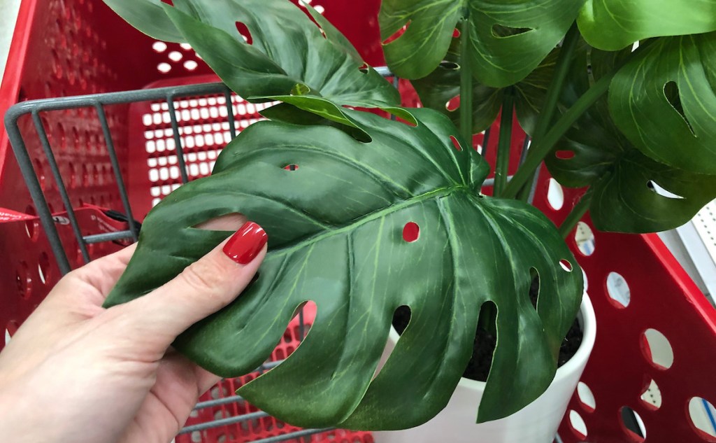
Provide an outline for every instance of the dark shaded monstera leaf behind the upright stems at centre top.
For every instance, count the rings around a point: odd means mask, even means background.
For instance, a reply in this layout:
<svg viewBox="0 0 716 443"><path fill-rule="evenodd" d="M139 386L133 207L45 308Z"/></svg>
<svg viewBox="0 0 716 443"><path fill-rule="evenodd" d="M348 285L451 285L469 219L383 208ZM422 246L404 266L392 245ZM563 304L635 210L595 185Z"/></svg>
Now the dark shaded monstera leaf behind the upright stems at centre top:
<svg viewBox="0 0 716 443"><path fill-rule="evenodd" d="M524 80L511 86L515 99L515 112L520 125L531 134L552 80L559 49L553 49L536 70ZM460 95L460 39L453 39L445 62L427 77L412 80L422 105L448 115L453 123L460 120L458 108L449 108L450 100ZM489 87L475 81L473 84L473 133L490 127L500 113L505 88Z"/></svg>

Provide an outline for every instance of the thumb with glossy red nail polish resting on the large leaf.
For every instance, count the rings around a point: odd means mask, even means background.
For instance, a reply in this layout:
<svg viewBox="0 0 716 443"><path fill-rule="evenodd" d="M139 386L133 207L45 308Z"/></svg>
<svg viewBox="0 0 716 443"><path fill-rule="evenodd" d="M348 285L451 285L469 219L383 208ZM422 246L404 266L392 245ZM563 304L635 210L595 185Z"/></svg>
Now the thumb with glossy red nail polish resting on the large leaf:
<svg viewBox="0 0 716 443"><path fill-rule="evenodd" d="M125 315L140 324L135 332L158 346L145 351L163 353L180 333L236 299L266 256L267 240L258 224L248 222L174 280L127 303Z"/></svg>

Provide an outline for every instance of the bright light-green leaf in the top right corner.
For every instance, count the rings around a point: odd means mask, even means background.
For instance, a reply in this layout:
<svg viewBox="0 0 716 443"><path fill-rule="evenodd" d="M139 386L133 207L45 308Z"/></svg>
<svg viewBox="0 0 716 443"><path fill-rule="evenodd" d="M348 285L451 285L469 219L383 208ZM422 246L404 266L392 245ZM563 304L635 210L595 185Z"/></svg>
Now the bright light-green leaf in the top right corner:
<svg viewBox="0 0 716 443"><path fill-rule="evenodd" d="M716 1L587 0L577 22L589 44L616 51L652 37L716 31Z"/></svg>

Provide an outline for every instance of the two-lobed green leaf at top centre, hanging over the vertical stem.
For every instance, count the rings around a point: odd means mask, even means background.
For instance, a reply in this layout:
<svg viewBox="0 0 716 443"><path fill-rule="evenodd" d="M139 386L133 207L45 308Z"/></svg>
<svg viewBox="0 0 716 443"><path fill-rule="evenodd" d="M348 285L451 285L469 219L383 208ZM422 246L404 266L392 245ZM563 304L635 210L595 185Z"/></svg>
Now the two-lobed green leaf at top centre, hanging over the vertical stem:
<svg viewBox="0 0 716 443"><path fill-rule="evenodd" d="M470 21L470 64L483 85L523 80L560 42L584 0L383 0L379 15L388 65L400 77L422 78L448 53L455 27Z"/></svg>

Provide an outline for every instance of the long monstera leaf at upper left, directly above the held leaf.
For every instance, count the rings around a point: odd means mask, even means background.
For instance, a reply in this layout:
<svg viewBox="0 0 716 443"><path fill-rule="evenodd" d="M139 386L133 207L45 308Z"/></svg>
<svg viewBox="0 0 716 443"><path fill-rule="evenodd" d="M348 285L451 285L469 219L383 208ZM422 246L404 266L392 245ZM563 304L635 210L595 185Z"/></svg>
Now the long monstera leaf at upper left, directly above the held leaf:
<svg viewBox="0 0 716 443"><path fill-rule="evenodd" d="M352 44L310 6L306 8L320 27L289 0L176 0L173 4L163 4L165 18L246 100L281 100L345 125L352 123L345 118L344 105L398 111L392 109L400 105L395 87L364 66ZM150 16L130 23L147 34L155 33ZM244 34L237 23L243 25Z"/></svg>

